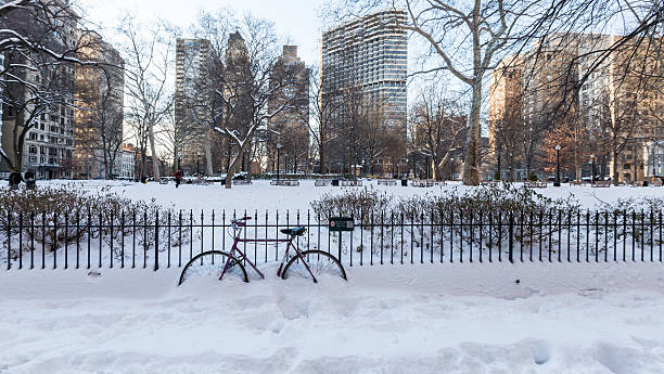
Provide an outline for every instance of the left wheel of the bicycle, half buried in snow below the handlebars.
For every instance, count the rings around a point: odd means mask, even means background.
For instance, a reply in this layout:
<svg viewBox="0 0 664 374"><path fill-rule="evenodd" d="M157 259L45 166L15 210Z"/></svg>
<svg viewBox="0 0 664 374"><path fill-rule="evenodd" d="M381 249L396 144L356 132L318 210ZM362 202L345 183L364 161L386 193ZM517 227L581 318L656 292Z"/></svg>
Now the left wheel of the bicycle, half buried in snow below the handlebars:
<svg viewBox="0 0 664 374"><path fill-rule="evenodd" d="M224 279L234 278L248 282L246 270L238 258L229 255L226 252L208 250L194 256L191 260L189 260L189 262L187 262L184 269L182 269L182 273L180 274L178 285L194 278L219 279L229 258L230 262L226 269L226 272L224 273Z"/></svg>

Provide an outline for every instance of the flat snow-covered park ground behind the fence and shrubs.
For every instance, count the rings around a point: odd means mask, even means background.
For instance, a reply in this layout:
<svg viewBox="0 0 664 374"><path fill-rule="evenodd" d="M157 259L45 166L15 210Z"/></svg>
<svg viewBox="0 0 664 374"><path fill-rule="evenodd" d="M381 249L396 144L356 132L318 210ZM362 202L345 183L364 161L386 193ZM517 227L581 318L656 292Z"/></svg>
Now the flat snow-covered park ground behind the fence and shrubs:
<svg viewBox="0 0 664 374"><path fill-rule="evenodd" d="M71 183L67 181L42 182L47 183ZM79 182L81 183L81 182ZM86 190L99 191L104 186L110 186L111 192L122 193L132 199L151 201L166 206L175 206L178 209L193 210L222 210L231 211L237 209L242 211L258 210L291 210L297 209L305 211L310 209L311 201L318 199L323 194L337 194L345 189L375 189L382 191L394 198L411 195L435 195L444 191L457 190L460 193L468 191L469 186L452 182L443 186L433 188L403 188L376 185L376 181L365 181L361 188L339 188L339 186L315 186L314 180L304 180L299 186L273 186L267 180L257 180L253 185L233 185L231 190L226 190L221 184L195 185L182 184L179 189L175 184L158 184L151 182L148 184L122 182L122 181L86 181L82 185ZM549 184L546 189L536 189L548 197L560 198L572 195L584 207L593 208L601 202L612 203L618 198L628 197L664 197L664 188L633 188L633 186L611 186L597 189L591 186L569 186L553 188Z"/></svg>

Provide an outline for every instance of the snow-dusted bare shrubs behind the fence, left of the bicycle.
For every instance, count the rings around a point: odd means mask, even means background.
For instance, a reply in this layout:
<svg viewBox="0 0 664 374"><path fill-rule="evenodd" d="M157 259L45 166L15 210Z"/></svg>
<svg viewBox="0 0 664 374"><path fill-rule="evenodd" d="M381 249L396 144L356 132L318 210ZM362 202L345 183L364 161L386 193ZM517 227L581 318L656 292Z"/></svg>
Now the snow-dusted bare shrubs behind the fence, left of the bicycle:
<svg viewBox="0 0 664 374"><path fill-rule="evenodd" d="M80 183L71 183L34 191L0 190L0 224L11 228L12 248L16 248L10 256L17 256L20 235L24 252L37 248L53 252L88 240L103 241L107 246L111 241L126 236L133 236L140 247L150 247L154 245L155 232L167 238L169 218L171 224L179 222L179 211L164 208L154 199L135 202L110 193L110 188L97 193L81 188ZM182 241L180 233L171 230L171 246L192 240L190 217L183 215L182 224ZM0 232L0 241L8 245L7 229ZM116 247L118 255L119 246Z"/></svg>

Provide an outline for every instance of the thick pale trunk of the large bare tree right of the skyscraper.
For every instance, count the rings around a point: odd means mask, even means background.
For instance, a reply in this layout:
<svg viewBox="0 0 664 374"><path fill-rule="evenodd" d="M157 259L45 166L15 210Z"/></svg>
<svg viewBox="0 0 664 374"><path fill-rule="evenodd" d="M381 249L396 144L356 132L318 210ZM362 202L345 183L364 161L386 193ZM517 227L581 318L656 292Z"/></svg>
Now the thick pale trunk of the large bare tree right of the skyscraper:
<svg viewBox="0 0 664 374"><path fill-rule="evenodd" d="M480 111L482 107L482 79L473 81L473 102L465 136L465 155L463 163L463 184L480 184Z"/></svg>

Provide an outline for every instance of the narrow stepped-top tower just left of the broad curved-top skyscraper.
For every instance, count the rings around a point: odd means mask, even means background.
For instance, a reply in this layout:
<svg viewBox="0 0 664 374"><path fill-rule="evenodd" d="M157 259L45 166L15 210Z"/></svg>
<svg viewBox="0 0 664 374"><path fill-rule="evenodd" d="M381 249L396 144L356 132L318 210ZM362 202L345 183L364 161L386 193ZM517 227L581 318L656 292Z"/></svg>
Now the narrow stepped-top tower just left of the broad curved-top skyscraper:
<svg viewBox="0 0 664 374"><path fill-rule="evenodd" d="M271 89L276 96L268 103L268 112L276 112L286 106L269 119L270 129L277 133L276 141L282 146L282 156L289 162L282 162L286 170L297 172L302 162L308 158L309 152L309 75L310 69L297 56L296 46L283 46L283 54L279 59L273 75L270 77ZM276 143L269 144L270 159L268 168L276 165Z"/></svg>

